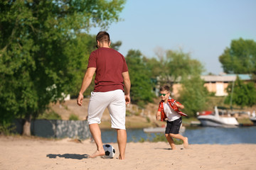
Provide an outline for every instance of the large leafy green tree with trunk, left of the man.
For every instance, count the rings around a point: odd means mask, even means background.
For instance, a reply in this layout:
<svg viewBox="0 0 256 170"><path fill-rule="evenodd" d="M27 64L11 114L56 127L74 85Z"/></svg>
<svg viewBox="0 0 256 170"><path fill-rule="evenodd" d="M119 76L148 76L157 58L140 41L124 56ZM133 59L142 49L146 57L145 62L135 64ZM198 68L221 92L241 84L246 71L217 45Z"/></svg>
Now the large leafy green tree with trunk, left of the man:
<svg viewBox="0 0 256 170"><path fill-rule="evenodd" d="M0 2L0 124L42 113L73 89L87 54L81 31L118 22L124 0Z"/></svg>

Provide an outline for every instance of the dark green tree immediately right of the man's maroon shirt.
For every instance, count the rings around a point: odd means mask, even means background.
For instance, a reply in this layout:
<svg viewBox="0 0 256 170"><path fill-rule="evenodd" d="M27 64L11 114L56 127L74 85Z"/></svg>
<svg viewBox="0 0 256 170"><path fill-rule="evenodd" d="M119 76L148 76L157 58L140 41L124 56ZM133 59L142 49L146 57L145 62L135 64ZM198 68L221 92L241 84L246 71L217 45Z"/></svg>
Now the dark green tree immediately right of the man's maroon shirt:
<svg viewBox="0 0 256 170"><path fill-rule="evenodd" d="M151 102L154 94L150 81L150 71L142 60L139 50L129 50L125 57L131 79L131 100L139 106Z"/></svg>

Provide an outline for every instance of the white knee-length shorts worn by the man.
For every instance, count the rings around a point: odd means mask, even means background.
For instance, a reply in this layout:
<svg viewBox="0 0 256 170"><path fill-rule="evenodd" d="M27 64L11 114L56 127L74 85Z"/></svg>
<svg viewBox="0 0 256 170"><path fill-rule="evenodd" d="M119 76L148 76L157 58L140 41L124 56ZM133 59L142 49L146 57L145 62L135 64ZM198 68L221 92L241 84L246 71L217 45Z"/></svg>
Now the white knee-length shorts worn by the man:
<svg viewBox="0 0 256 170"><path fill-rule="evenodd" d="M111 118L111 128L125 130L125 100L122 90L107 92L92 91L88 106L88 123L98 123L102 114L108 108Z"/></svg>

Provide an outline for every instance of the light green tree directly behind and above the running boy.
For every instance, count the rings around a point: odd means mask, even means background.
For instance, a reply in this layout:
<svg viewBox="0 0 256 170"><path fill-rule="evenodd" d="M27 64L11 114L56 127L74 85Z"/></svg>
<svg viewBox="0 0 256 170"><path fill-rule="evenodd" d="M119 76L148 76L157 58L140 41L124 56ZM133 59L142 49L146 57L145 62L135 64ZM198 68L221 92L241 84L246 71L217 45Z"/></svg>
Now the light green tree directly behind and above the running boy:
<svg viewBox="0 0 256 170"><path fill-rule="evenodd" d="M202 111L206 106L208 91L201 79L203 65L193 60L189 53L181 51L166 51L166 57L161 57L160 84L181 84L178 101L185 106L184 111L191 116Z"/></svg>

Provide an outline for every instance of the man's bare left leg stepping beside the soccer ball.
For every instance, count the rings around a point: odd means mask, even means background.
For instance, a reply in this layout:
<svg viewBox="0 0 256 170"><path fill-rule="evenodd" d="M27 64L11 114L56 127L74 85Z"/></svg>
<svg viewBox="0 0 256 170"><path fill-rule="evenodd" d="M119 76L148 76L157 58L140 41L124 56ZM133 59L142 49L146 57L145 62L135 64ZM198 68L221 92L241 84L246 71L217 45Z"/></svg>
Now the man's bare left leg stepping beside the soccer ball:
<svg viewBox="0 0 256 170"><path fill-rule="evenodd" d="M101 131L100 131L99 125L97 123L93 123L89 125L89 128L90 128L92 137L95 140L95 144L97 146L97 150L93 154L91 154L90 157L95 158L98 156L104 156L105 151L102 146Z"/></svg>

